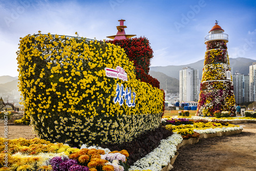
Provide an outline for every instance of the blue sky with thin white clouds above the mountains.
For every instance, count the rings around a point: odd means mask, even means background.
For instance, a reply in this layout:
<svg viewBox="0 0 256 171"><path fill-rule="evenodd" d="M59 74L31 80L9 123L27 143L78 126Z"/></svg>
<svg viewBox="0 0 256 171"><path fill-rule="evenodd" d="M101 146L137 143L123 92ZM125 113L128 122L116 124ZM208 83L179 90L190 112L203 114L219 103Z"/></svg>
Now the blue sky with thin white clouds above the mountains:
<svg viewBox="0 0 256 171"><path fill-rule="evenodd" d="M204 37L215 20L229 35L231 58L256 59L256 1L48 1L0 0L0 76L17 76L19 37L28 34L109 39L125 19L126 34L145 36L151 66L185 65L204 59Z"/></svg>

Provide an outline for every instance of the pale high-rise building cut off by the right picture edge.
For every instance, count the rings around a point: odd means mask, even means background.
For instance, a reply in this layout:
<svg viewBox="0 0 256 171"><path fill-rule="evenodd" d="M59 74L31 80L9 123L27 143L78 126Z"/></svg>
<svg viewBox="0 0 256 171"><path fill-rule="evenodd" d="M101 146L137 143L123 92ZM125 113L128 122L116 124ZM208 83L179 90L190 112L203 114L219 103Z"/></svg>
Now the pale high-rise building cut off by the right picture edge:
<svg viewBox="0 0 256 171"><path fill-rule="evenodd" d="M250 101L256 101L256 62L252 63L249 71Z"/></svg>

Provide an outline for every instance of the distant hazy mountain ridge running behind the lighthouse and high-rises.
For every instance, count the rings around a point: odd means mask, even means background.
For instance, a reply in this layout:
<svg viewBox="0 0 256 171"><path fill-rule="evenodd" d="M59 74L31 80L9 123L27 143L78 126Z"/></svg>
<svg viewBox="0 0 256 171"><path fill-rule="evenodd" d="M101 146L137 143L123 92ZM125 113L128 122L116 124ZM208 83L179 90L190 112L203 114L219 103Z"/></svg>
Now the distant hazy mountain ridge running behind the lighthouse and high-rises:
<svg viewBox="0 0 256 171"><path fill-rule="evenodd" d="M238 71L241 74L248 75L249 74L249 66L252 65L252 62L256 62L256 60L249 58L229 58L230 67L233 67L233 74ZM204 67L204 59L199 60L194 63L190 63L187 65L180 66L166 66L166 67L150 67L150 71L156 71L164 73L169 77L173 77L179 79L179 72L182 68L191 67L193 69L199 70L199 79L202 78L203 67Z"/></svg>

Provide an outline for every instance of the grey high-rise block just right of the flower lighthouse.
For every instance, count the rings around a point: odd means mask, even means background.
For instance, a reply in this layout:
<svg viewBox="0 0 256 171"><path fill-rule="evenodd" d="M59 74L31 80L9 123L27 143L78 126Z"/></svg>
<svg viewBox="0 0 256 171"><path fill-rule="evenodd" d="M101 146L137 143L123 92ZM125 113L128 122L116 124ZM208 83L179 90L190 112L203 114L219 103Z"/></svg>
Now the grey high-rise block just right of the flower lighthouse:
<svg viewBox="0 0 256 171"><path fill-rule="evenodd" d="M236 103L249 102L249 76L236 72L233 75L233 85Z"/></svg>

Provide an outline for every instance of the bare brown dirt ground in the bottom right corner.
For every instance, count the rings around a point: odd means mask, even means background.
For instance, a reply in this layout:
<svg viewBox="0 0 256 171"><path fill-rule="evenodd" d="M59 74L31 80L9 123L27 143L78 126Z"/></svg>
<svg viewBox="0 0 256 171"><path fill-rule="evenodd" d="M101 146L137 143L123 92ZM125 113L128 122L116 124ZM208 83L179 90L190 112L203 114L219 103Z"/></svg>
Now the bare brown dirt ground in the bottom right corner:
<svg viewBox="0 0 256 171"><path fill-rule="evenodd" d="M256 124L241 123L241 134L200 139L180 147L173 170L256 170Z"/></svg>

